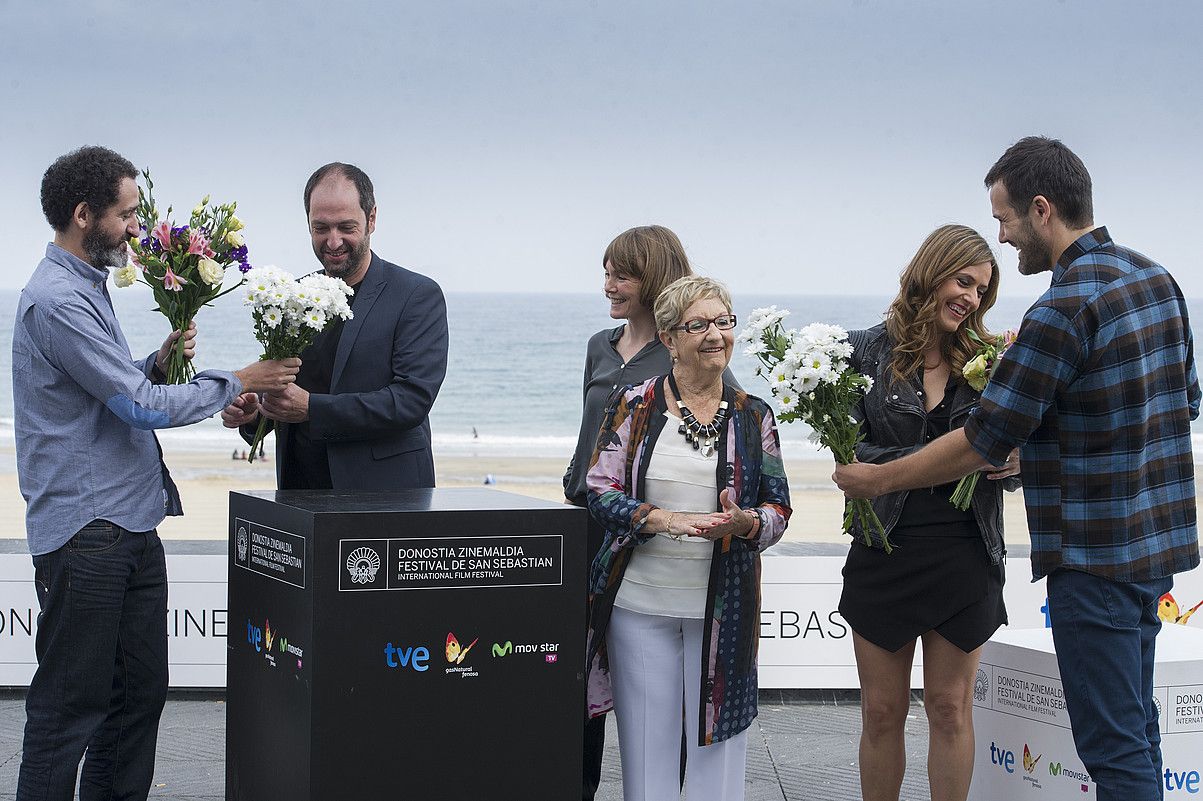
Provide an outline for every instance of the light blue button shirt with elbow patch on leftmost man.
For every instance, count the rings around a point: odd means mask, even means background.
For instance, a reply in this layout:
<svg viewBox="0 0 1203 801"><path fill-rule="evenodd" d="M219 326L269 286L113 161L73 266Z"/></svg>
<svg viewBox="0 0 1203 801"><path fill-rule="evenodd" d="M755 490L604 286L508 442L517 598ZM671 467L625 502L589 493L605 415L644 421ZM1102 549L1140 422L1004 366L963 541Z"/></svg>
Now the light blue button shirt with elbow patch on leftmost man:
<svg viewBox="0 0 1203 801"><path fill-rule="evenodd" d="M155 354L131 358L107 278L52 243L17 305L17 474L34 556L93 520L148 532L183 514L153 429L209 417L242 391L218 370L185 385L153 384Z"/></svg>

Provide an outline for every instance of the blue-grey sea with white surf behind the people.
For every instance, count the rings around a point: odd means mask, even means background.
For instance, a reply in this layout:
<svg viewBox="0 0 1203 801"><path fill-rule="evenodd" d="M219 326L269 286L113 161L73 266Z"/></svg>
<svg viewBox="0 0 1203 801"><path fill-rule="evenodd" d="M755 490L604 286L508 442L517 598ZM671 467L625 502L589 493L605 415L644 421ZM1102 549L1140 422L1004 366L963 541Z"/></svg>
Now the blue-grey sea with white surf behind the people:
<svg viewBox="0 0 1203 801"><path fill-rule="evenodd" d="M144 287L109 286L118 319L135 356L162 343L166 319L153 310ZM0 291L0 437L12 437L12 326L19 292ZM236 369L259 357L249 309L239 293L221 298L197 318L198 369ZM431 413L435 453L449 456L546 456L567 464L576 441L581 409L585 344L610 319L600 291L595 293L449 292L450 355L448 376ZM757 307L776 303L790 309L792 327L812 321L860 328L881 321L889 296L746 295L735 297L741 325ZM992 331L1018 326L1030 298L1001 298L986 316ZM1203 301L1191 303L1203 319ZM731 369L745 388L768 394L754 374L755 361L736 345ZM804 426L782 427L782 446L790 458L830 458L806 439ZM160 433L168 447L232 451L244 443L217 417ZM1197 451L1203 426L1196 427Z"/></svg>

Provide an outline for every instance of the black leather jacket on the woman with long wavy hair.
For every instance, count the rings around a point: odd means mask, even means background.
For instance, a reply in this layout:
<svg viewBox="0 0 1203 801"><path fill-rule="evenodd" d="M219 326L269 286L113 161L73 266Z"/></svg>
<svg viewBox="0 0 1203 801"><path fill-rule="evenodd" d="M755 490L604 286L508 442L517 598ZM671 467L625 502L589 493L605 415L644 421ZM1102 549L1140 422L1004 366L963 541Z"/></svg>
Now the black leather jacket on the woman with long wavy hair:
<svg viewBox="0 0 1203 801"><path fill-rule="evenodd" d="M865 331L852 331L848 340L853 346L849 363L873 379L873 388L861 398L853 415L861 423L864 441L857 446L857 459L883 464L919 450L924 445L926 407L920 397L923 390L912 381L896 381L890 369L891 342L885 333L885 324ZM970 411L977 405L979 393L964 381L956 382L949 413L949 431L965 425ZM1019 476L1002 481L978 481L973 492L973 517L991 564L998 564L1006 554L1002 541L1002 491L1019 488ZM889 534L902 515L907 491L891 492L873 499L873 511ZM861 533L855 532L858 538ZM873 542L875 547L881 547Z"/></svg>

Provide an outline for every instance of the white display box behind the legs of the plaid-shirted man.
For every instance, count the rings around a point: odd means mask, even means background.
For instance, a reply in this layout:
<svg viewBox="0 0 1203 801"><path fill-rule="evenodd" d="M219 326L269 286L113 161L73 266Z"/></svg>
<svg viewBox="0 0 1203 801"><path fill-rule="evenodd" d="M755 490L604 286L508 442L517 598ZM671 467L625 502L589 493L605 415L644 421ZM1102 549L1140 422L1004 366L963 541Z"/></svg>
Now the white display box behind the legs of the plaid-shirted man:
<svg viewBox="0 0 1203 801"><path fill-rule="evenodd" d="M1203 630L1162 625L1152 683L1162 791L1185 799L1203 790ZM1011 801L1027 790L1045 801L1095 797L1073 746L1049 630L1003 631L985 645L973 707L971 801Z"/></svg>

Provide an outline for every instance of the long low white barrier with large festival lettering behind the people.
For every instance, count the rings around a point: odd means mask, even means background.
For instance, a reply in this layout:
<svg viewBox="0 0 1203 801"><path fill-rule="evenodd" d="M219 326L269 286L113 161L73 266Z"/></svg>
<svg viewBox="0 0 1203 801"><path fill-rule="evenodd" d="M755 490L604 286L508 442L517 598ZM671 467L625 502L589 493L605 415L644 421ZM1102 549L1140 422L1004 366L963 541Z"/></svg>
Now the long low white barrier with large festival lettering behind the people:
<svg viewBox="0 0 1203 801"><path fill-rule="evenodd" d="M858 687L852 631L836 610L843 560L843 556L765 554L760 687ZM28 686L36 668L32 574L28 554L0 553L0 686ZM225 639L231 631L225 612L226 557L168 553L167 575L172 687L225 687ZM1003 594L1011 628L1044 628L1044 582L1030 581L1030 562L1008 557L1007 576ZM1173 594L1183 611L1203 600L1203 572L1177 576ZM1187 625L1203 628L1203 609ZM921 649L915 654L912 686L923 686Z"/></svg>

